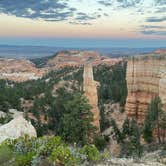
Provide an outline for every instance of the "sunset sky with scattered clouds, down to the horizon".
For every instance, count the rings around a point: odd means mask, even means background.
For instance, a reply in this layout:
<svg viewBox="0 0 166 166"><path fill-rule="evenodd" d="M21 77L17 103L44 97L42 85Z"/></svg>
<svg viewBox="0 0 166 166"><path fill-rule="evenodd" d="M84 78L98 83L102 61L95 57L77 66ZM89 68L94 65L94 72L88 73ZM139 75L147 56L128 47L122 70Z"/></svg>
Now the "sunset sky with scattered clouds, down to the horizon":
<svg viewBox="0 0 166 166"><path fill-rule="evenodd" d="M0 44L166 47L166 0L0 0Z"/></svg>

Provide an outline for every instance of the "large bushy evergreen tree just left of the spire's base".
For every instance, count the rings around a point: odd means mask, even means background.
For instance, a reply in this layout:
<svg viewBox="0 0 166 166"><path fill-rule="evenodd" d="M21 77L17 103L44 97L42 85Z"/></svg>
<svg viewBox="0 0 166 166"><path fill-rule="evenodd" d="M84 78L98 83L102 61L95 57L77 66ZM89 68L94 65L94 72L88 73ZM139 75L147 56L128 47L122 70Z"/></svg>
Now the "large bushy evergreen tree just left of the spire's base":
<svg viewBox="0 0 166 166"><path fill-rule="evenodd" d="M86 144L95 134L92 125L93 114L91 106L81 94L75 94L71 100L64 103L64 114L60 119L59 135L68 142Z"/></svg>

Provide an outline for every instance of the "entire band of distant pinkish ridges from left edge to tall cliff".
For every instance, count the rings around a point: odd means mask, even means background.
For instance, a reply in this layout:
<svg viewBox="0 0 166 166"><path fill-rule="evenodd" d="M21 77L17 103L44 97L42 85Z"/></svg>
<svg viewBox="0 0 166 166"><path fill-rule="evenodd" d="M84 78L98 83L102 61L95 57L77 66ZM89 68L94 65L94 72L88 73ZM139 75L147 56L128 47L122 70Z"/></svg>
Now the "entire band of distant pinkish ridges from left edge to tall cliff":
<svg viewBox="0 0 166 166"><path fill-rule="evenodd" d="M114 65L121 58L101 56L95 51L61 51L50 57L37 58L31 61L26 59L0 58L0 79L16 82L37 80L47 72L63 67L83 67L91 62L92 66L99 64Z"/></svg>

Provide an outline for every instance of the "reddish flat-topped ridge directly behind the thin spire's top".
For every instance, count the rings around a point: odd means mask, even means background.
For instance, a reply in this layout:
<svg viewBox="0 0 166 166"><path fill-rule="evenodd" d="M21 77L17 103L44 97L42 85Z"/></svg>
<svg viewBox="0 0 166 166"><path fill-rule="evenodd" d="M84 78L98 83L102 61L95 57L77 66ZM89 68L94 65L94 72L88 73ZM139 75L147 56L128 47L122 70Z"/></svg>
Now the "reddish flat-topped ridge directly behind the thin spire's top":
<svg viewBox="0 0 166 166"><path fill-rule="evenodd" d="M54 58L47 62L48 69L57 69L66 66L83 66L91 62L93 66L99 64L114 65L120 62L121 58L108 58L101 56L95 51L61 51Z"/></svg>

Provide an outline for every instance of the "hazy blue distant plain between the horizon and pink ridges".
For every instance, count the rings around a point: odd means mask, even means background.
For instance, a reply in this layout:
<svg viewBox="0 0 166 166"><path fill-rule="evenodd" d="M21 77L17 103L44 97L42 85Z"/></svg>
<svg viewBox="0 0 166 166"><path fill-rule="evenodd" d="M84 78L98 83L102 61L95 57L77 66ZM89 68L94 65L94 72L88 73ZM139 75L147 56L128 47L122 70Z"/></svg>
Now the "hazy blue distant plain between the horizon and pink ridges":
<svg viewBox="0 0 166 166"><path fill-rule="evenodd" d="M39 58L51 56L62 50L92 50L110 57L129 56L153 52L156 48L71 48L53 46L14 46L0 45L0 57L5 58Z"/></svg>

